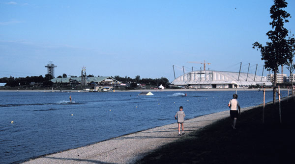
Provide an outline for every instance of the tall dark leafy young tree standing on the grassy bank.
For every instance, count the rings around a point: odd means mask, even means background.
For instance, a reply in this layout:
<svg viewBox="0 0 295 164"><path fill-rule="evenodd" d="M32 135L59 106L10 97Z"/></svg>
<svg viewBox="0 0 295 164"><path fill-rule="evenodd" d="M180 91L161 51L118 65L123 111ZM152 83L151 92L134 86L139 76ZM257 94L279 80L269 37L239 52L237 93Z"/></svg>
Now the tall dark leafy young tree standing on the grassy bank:
<svg viewBox="0 0 295 164"><path fill-rule="evenodd" d="M288 30L284 28L284 23L289 22L287 18L290 17L290 14L282 10L288 4L285 0L273 1L274 4L270 7L272 22L269 24L274 30L266 33L270 42L266 42L266 46L255 42L253 48L260 49L261 59L265 61L265 68L274 72L273 103L275 103L278 67L287 64L288 43L286 36L288 36Z"/></svg>

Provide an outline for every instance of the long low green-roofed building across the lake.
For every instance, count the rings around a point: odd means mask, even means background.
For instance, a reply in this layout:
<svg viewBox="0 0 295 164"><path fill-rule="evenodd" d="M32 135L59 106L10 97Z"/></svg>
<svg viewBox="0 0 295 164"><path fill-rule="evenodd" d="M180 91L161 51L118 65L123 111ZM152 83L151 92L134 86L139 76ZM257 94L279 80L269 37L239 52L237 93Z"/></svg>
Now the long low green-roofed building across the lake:
<svg viewBox="0 0 295 164"><path fill-rule="evenodd" d="M82 78L81 77L60 77L53 78L50 81L53 83L59 83L63 85L81 85ZM101 77L87 77L86 78L87 85L103 85L103 86L113 86L116 84L121 84L118 80L114 79L110 76L101 76Z"/></svg>

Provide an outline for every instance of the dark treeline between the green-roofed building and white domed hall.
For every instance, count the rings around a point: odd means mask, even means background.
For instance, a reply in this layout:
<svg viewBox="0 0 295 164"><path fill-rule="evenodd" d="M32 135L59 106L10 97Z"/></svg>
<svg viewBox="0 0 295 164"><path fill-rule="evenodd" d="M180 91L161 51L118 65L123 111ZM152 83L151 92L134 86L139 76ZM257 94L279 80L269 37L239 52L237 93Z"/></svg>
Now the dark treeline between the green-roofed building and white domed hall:
<svg viewBox="0 0 295 164"><path fill-rule="evenodd" d="M161 78L156 78L156 79L151 79L151 78L143 78L141 79L139 75L135 76L135 78L130 78L130 77L120 77L120 76L115 76L113 77L119 82L122 83L136 83L136 84L145 84L145 85L152 85L152 86L162 86L168 87L170 85L169 80L166 77L161 77Z"/></svg>

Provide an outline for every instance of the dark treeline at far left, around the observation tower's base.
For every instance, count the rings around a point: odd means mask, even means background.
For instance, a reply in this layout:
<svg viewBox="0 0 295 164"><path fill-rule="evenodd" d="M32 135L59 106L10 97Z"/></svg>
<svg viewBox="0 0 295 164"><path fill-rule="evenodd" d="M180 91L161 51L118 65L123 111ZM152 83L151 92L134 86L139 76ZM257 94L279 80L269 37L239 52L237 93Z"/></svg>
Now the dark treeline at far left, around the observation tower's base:
<svg viewBox="0 0 295 164"><path fill-rule="evenodd" d="M0 78L0 83L7 83L6 86L17 87L17 86L27 86L30 85L31 82L34 83L42 83L43 86L52 86L53 82L50 81L52 79L51 74L46 74L45 77L40 76L27 76L27 77L2 77Z"/></svg>

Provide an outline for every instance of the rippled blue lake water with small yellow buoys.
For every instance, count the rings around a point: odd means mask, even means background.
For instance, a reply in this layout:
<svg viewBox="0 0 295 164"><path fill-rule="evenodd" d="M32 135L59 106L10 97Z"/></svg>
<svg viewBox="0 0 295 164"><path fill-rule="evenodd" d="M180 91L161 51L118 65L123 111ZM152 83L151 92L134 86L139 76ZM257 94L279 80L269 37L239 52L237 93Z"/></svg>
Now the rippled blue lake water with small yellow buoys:
<svg viewBox="0 0 295 164"><path fill-rule="evenodd" d="M171 124L176 122L179 106L183 106L185 119L229 110L227 104L235 91L138 94L0 92L0 163L20 163ZM263 103L263 92L237 94L241 107ZM272 92L266 92L266 101L271 100Z"/></svg>

